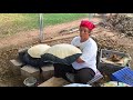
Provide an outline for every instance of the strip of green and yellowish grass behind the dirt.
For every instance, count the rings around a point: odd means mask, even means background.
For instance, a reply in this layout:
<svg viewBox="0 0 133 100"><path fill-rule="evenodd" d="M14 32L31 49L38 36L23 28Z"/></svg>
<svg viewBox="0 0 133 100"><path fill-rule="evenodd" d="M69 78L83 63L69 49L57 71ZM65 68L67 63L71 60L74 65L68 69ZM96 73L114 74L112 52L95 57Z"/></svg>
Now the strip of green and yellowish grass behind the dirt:
<svg viewBox="0 0 133 100"><path fill-rule="evenodd" d="M86 18L89 13L43 13L43 24L53 26ZM0 38L39 29L39 13L0 13Z"/></svg>

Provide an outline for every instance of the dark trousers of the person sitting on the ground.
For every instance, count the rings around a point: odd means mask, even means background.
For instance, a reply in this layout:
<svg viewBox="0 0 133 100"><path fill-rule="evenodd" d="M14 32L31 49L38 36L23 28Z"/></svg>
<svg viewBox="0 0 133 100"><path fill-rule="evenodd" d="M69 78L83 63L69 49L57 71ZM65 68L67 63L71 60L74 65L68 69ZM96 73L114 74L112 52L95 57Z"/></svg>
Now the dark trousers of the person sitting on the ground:
<svg viewBox="0 0 133 100"><path fill-rule="evenodd" d="M54 63L53 67L54 67L54 77L63 78L68 80L65 73L66 72L74 73L74 81L76 83L86 83L95 76L95 72L90 68L75 70L73 69L72 66L60 64L60 63Z"/></svg>

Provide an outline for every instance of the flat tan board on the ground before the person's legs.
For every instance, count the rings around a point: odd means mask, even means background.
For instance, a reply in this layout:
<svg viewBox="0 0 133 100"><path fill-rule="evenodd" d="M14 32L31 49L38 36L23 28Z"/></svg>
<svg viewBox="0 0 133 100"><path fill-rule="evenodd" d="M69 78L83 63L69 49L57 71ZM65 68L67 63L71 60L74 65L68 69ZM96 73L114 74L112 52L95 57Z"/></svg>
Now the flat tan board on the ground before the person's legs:
<svg viewBox="0 0 133 100"><path fill-rule="evenodd" d="M63 87L65 84L69 84L66 80L62 78L52 77L43 83L39 84L38 87Z"/></svg>

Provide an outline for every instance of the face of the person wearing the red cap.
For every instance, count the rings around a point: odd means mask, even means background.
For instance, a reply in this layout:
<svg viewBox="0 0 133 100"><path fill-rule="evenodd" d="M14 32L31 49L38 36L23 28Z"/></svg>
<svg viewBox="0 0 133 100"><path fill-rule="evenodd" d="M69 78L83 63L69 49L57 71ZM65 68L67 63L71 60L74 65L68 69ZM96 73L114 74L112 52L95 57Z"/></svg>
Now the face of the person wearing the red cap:
<svg viewBox="0 0 133 100"><path fill-rule="evenodd" d="M81 37L81 40L86 40L89 39L89 36L90 36L90 30L85 27L80 27L80 37Z"/></svg>

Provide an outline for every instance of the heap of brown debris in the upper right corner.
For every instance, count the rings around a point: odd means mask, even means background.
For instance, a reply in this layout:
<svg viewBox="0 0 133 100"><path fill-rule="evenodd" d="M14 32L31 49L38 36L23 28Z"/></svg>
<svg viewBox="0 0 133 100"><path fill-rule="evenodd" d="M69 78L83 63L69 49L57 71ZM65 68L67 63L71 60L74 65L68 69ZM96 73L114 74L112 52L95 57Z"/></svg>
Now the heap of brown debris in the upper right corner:
<svg viewBox="0 0 133 100"><path fill-rule="evenodd" d="M127 37L133 37L133 18L126 14L114 14L99 24L106 29L124 33Z"/></svg>

